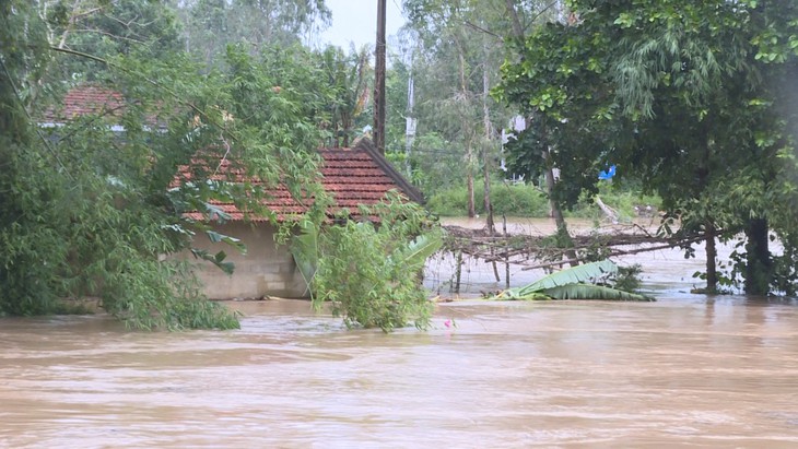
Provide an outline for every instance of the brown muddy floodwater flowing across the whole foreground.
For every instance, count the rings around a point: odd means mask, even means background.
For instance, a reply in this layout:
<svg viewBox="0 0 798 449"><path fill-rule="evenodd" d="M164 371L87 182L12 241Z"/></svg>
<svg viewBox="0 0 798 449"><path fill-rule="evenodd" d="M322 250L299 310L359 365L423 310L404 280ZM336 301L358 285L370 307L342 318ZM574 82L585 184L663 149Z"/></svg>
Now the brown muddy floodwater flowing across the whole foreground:
<svg viewBox="0 0 798 449"><path fill-rule="evenodd" d="M455 302L394 334L290 300L227 332L2 319L0 447L798 447L798 305L659 299Z"/></svg>

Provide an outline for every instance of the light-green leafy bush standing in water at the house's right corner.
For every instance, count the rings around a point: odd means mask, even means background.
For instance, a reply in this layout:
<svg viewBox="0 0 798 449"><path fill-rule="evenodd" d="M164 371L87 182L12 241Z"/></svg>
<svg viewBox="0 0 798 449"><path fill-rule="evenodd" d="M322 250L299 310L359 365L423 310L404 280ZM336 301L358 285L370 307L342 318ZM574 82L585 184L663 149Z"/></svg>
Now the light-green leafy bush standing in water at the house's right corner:
<svg viewBox="0 0 798 449"><path fill-rule="evenodd" d="M375 217L376 223L345 220L309 227L295 240L294 253L304 255L297 259L301 267L312 265L314 249L318 257L315 272L303 271L312 279L314 304L330 302L347 327L389 332L412 321L425 329L433 305L419 276L426 258L443 244L439 227L429 222L423 209L398 194L362 208L361 215Z"/></svg>

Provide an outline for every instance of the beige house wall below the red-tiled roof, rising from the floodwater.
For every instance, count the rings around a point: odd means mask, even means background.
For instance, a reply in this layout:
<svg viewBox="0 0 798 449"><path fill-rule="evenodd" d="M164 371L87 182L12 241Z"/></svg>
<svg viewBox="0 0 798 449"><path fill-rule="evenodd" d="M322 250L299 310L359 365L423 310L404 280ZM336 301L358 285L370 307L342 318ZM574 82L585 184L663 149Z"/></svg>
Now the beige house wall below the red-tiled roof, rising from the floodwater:
<svg viewBox="0 0 798 449"><path fill-rule="evenodd" d="M207 261L198 261L198 275L211 299L260 298L262 296L307 297L305 281L286 246L274 243L274 227L268 223L226 223L214 229L239 238L247 246L242 255L225 244L212 244L198 234L195 247L211 253L223 250L225 261L235 263L233 275L227 275ZM190 253L187 256L193 258Z"/></svg>

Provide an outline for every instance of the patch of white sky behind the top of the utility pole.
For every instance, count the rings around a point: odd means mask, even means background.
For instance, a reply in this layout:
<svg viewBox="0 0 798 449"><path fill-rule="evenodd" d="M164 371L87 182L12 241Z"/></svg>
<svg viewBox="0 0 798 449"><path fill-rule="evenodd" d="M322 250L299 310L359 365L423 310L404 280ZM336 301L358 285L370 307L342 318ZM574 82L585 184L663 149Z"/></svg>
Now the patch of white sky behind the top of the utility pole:
<svg viewBox="0 0 798 449"><path fill-rule="evenodd" d="M337 45L344 50L350 43L355 48L363 45L374 47L377 39L377 0L327 0L332 12L332 25L321 33L319 40ZM397 34L404 24L401 0L387 0L386 36Z"/></svg>

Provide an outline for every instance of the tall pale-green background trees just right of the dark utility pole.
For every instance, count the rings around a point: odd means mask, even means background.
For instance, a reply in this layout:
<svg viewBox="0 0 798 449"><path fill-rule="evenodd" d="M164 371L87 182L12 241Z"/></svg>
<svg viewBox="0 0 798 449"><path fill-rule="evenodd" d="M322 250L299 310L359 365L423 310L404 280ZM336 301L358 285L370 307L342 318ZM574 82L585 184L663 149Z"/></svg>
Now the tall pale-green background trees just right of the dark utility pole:
<svg viewBox="0 0 798 449"><path fill-rule="evenodd" d="M503 123L506 116L489 95L503 57L502 37L491 31L501 27L502 14L494 3L403 3L408 27L416 36L411 70L418 97L413 111L418 135L438 135L459 150L462 162L457 173L465 178L469 192L470 216L476 206L474 179L480 168L490 172L490 161L498 149L496 130L501 125L496 123Z"/></svg>

